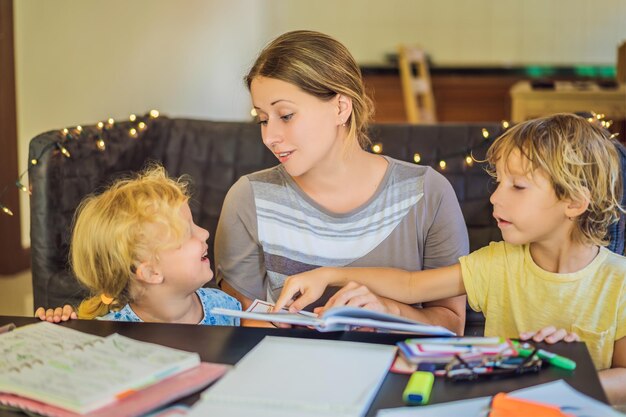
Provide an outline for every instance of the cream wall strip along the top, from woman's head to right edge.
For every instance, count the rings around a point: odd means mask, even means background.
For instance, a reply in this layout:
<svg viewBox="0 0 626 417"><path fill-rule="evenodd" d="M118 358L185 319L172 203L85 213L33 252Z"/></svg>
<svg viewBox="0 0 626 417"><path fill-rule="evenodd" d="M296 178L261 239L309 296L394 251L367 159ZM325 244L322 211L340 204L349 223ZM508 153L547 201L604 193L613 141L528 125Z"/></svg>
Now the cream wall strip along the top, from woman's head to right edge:
<svg viewBox="0 0 626 417"><path fill-rule="evenodd" d="M271 1L273 34L313 28L360 62L419 43L438 64L611 64L626 39L623 0Z"/></svg>

